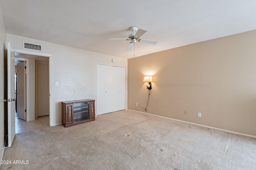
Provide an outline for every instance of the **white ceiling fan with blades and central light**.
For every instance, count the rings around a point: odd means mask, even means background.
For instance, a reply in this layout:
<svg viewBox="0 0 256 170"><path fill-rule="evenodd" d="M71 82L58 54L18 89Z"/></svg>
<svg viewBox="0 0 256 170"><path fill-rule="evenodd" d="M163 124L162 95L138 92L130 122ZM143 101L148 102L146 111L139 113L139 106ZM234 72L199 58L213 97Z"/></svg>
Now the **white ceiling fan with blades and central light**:
<svg viewBox="0 0 256 170"><path fill-rule="evenodd" d="M145 29L138 29L138 27L133 26L130 27L130 30L132 31L132 33L130 35L128 35L128 38L110 38L108 40L130 40L132 42L130 42L130 44L128 45L128 47L126 48L125 51L129 51L132 49L133 44L135 44L137 41L138 42L142 42L142 43L148 43L148 44L156 44L158 43L158 41L154 41L154 40L148 40L148 39L140 39L140 37L147 32L147 30ZM138 31L137 31L138 30Z"/></svg>

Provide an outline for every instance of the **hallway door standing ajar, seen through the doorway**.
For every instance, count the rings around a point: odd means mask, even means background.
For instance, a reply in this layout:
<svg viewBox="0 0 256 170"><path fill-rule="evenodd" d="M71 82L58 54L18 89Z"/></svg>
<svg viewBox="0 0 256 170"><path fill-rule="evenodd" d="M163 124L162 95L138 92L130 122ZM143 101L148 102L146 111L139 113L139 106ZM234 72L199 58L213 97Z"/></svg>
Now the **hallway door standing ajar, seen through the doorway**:
<svg viewBox="0 0 256 170"><path fill-rule="evenodd" d="M17 117L26 120L26 62L22 61L17 63L17 87L16 87L16 100L17 100Z"/></svg>

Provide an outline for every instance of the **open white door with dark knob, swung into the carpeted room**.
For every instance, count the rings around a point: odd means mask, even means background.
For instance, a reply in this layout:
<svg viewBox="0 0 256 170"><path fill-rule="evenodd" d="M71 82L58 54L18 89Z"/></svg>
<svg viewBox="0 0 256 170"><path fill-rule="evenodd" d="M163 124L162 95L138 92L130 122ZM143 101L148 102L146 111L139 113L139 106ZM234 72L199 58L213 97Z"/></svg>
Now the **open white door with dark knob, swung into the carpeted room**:
<svg viewBox="0 0 256 170"><path fill-rule="evenodd" d="M8 147L12 146L15 136L15 54L7 43L7 97L8 97Z"/></svg>

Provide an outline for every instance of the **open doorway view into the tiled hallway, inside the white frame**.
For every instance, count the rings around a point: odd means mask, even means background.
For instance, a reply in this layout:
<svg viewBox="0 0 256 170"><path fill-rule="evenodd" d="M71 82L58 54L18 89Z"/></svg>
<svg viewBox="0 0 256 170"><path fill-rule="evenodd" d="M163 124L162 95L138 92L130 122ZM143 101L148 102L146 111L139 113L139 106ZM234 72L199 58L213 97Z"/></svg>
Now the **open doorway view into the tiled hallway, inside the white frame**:
<svg viewBox="0 0 256 170"><path fill-rule="evenodd" d="M49 57L20 53L15 53L15 57L15 70L17 75L16 134L49 127ZM42 70L41 65L43 65L45 69ZM18 81L23 78L26 79L28 73L30 75L28 75L27 82L26 80L25 83ZM28 95L26 92L22 92L22 90L28 90ZM28 96L28 102L26 96ZM28 107L28 111L26 111L26 107ZM44 114L38 115L38 110L42 108L44 108Z"/></svg>

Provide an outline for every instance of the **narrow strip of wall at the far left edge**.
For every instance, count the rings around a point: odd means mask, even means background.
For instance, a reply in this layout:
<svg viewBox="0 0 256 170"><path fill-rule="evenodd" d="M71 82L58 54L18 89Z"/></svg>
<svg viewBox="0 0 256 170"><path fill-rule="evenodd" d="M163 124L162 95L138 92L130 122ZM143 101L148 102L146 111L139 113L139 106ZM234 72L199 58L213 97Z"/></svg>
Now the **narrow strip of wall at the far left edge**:
<svg viewBox="0 0 256 170"><path fill-rule="evenodd" d="M6 29L0 8L0 160L4 154L4 50L6 48Z"/></svg>

